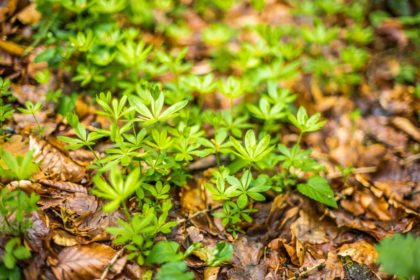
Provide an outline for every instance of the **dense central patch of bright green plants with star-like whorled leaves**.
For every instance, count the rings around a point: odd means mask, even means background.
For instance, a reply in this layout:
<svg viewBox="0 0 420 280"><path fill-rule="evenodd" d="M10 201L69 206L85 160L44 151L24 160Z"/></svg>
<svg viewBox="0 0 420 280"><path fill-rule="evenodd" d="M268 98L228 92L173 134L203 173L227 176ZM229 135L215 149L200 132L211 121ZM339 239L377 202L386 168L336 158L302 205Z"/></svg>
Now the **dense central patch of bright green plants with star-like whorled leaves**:
<svg viewBox="0 0 420 280"><path fill-rule="evenodd" d="M323 166L302 143L325 121L319 113L308 116L304 108L292 114L297 97L292 89L303 70L326 95L357 92L369 58L364 45L373 35L364 21L368 4L363 1L290 1L297 26L208 24L197 34L199 51L189 50L183 46L197 32L185 11L193 9L209 20L226 16L234 4L193 2L37 0L41 13L54 17L38 25L37 40L45 50L36 61L63 69L80 94L94 97L95 115L102 120L100 128L85 127L71 114L77 94L62 93L56 98L58 111L67 116L75 136L59 139L68 149L94 154L89 166L96 173L93 193L106 200L105 211L124 211L119 226L108 231L130 259L151 266L155 262L148 263L149 258L169 252L165 246L172 248L168 255L174 262L159 263L161 279L187 273L179 246L154 244L156 235L161 238L176 225L168 200L195 176L190 164L200 158L215 159L205 187L220 204L211 212L234 236L252 221L255 202L267 194L297 190L337 207ZM265 5L248 2L250 9ZM346 14L352 19L342 21ZM337 45L345 47L337 52ZM201 72L189 62L197 60L211 67ZM408 72L400 79L410 82ZM38 82L47 82L48 73L38 74ZM51 89L51 100L58 90ZM283 133L295 128L295 145L281 145ZM98 152L103 145L107 148ZM216 251L208 265L223 263L231 249L220 245Z"/></svg>

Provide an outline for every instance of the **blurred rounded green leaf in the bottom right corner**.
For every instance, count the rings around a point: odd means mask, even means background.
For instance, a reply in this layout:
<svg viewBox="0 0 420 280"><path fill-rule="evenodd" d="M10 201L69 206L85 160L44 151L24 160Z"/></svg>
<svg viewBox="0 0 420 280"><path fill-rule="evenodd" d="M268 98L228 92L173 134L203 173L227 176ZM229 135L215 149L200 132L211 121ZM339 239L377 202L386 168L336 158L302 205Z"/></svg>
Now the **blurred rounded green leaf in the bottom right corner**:
<svg viewBox="0 0 420 280"><path fill-rule="evenodd" d="M376 250L378 262L385 272L398 276L398 279L420 277L420 238L396 234L379 242Z"/></svg>

